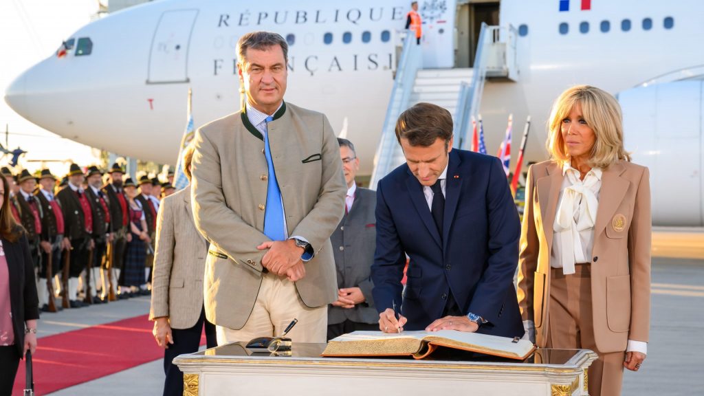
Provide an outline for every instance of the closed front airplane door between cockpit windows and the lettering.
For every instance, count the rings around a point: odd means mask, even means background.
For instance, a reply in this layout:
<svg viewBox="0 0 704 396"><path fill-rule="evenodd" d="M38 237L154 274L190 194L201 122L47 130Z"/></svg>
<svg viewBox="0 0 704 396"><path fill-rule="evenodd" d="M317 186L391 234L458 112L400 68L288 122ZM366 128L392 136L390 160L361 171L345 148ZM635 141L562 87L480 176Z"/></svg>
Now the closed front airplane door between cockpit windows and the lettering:
<svg viewBox="0 0 704 396"><path fill-rule="evenodd" d="M147 84L189 82L188 48L198 10L166 11L151 41Z"/></svg>

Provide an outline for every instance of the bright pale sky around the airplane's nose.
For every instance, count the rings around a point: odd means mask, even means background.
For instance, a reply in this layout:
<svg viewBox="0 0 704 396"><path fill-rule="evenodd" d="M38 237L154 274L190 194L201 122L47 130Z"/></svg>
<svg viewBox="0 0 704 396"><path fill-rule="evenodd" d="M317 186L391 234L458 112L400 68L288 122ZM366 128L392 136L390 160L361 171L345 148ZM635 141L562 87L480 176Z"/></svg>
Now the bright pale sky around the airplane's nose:
<svg viewBox="0 0 704 396"><path fill-rule="evenodd" d="M98 150L39 128L4 101L5 88L15 77L53 56L63 39L90 22L97 8L97 0L0 0L0 143L5 145L8 125L8 148L27 151L18 170L48 166L52 173L64 175L71 161L80 166L98 161ZM0 165L8 161L5 156Z"/></svg>

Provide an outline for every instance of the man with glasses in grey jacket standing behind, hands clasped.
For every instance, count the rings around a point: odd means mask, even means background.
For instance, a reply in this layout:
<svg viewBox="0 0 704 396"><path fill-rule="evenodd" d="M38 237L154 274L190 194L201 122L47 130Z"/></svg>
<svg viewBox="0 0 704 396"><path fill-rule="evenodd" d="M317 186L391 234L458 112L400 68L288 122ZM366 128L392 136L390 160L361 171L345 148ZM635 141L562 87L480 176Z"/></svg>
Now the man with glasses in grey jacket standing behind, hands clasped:
<svg viewBox="0 0 704 396"><path fill-rule="evenodd" d="M359 159L354 144L337 138L347 183L345 215L330 235L337 269L337 301L327 311L327 339L355 330L377 330L370 268L374 262L377 194L358 187L354 178Z"/></svg>

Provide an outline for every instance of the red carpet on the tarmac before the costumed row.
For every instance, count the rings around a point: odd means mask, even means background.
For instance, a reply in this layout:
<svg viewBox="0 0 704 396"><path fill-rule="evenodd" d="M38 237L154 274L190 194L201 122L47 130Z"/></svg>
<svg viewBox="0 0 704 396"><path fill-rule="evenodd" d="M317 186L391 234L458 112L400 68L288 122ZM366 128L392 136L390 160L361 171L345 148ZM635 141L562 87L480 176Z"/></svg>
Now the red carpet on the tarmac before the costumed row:
<svg viewBox="0 0 704 396"><path fill-rule="evenodd" d="M147 315L39 338L34 364L34 393L63 388L163 359ZM205 344L205 337L201 340ZM15 378L13 396L25 388L25 361ZM125 384L126 395L129 385Z"/></svg>

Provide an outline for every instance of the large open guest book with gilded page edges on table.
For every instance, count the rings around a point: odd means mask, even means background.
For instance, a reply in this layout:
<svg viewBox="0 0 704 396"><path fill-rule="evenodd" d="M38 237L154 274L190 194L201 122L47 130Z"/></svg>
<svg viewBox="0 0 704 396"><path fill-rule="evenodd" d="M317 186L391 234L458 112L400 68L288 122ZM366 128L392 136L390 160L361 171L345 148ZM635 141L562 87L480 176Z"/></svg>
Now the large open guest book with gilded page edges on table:
<svg viewBox="0 0 704 396"><path fill-rule="evenodd" d="M535 350L535 345L529 340L456 330L404 331L400 334L355 331L330 340L321 356L412 356L415 359L423 359L437 347L462 349L516 360L526 359Z"/></svg>

